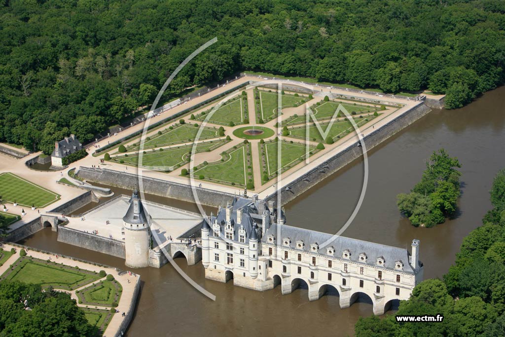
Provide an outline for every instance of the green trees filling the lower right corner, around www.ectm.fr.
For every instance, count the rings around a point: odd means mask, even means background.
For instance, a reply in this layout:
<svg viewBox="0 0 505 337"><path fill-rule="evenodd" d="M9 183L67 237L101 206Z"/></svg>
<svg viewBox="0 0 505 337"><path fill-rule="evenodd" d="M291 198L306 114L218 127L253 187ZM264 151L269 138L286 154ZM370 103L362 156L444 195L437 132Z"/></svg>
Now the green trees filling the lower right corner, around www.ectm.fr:
<svg viewBox="0 0 505 337"><path fill-rule="evenodd" d="M491 204L484 225L465 237L443 280L419 283L395 314L441 314L442 322L397 323L395 315L360 318L356 336L505 336L505 170L494 178Z"/></svg>

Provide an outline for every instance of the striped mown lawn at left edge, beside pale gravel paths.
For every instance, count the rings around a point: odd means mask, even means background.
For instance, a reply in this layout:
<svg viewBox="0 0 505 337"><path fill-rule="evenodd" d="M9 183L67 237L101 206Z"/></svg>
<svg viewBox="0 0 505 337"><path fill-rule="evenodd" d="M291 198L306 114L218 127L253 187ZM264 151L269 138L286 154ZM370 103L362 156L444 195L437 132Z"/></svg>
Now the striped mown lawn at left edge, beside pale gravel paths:
<svg viewBox="0 0 505 337"><path fill-rule="evenodd" d="M60 199L59 194L8 172L0 174L0 195L4 202L27 207L45 207Z"/></svg>

